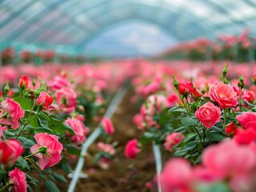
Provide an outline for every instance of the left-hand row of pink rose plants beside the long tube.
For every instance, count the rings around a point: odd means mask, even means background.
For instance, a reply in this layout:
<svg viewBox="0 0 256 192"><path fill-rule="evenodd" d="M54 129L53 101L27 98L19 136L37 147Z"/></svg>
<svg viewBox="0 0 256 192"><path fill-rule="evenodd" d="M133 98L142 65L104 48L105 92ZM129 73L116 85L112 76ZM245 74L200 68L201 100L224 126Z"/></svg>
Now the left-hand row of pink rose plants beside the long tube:
<svg viewBox="0 0 256 192"><path fill-rule="evenodd" d="M104 130L99 153L90 156L111 159L114 127L101 117L128 69L110 63L2 67L0 190L38 191L43 181L48 191L59 191L55 182L67 182L70 160L98 123Z"/></svg>

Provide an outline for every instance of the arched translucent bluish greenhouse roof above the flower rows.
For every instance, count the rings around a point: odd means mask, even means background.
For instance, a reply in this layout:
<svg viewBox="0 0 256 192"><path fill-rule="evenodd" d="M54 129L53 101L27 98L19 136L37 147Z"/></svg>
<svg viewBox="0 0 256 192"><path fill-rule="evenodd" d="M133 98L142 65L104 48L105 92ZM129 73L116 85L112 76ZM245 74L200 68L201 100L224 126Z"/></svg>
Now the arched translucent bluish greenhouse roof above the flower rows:
<svg viewBox="0 0 256 192"><path fill-rule="evenodd" d="M83 49L106 27L138 19L178 42L218 34L256 34L254 0L2 0L1 42Z"/></svg>

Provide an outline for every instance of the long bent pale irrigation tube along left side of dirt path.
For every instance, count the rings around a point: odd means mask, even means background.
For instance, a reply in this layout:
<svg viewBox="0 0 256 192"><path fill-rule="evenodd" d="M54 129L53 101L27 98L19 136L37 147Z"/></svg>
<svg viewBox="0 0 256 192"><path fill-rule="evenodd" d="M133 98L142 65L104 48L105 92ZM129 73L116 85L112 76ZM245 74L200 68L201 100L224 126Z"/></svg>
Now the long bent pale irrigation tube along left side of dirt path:
<svg viewBox="0 0 256 192"><path fill-rule="evenodd" d="M128 90L128 85L126 84L124 84L124 86L122 86L120 90L118 90L115 97L112 99L112 102L108 106L108 110L104 114L105 118L112 118L112 115L116 110L116 107L119 105L122 98L124 98L124 94L126 93L127 90ZM77 162L77 165L75 167L73 178L71 179L71 183L68 186L67 192L73 192L75 190L75 186L79 179L79 175L81 173L81 170L83 169L84 155L86 154L88 147L91 146L91 143L95 142L95 139L100 136L100 133L101 133L101 128L98 127L92 132L92 134L87 138L87 140L83 142L81 154Z"/></svg>

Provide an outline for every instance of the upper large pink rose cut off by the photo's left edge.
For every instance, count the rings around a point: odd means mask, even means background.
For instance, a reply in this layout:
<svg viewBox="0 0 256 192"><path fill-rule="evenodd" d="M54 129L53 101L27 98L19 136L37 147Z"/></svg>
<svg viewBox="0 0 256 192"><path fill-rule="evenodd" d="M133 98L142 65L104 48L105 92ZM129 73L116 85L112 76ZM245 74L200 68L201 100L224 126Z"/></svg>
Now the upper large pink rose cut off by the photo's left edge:
<svg viewBox="0 0 256 192"><path fill-rule="evenodd" d="M24 110L18 102L14 102L10 98L6 98L6 101L1 102L2 114L7 113L7 118L0 119L0 123L10 125L10 128L16 130L19 126L19 118L24 117Z"/></svg>

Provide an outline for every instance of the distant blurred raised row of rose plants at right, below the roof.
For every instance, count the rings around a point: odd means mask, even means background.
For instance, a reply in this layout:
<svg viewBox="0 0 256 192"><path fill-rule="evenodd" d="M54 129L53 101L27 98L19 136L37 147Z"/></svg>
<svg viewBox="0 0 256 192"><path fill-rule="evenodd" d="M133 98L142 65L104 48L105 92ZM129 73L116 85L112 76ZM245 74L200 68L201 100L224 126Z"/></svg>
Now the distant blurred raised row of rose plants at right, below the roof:
<svg viewBox="0 0 256 192"><path fill-rule="evenodd" d="M239 35L221 34L216 40L197 38L189 42L182 42L165 51L160 57L187 58L192 61L231 59L248 62L250 61L250 47L255 52L254 44L255 38L250 38L250 30L244 30Z"/></svg>

